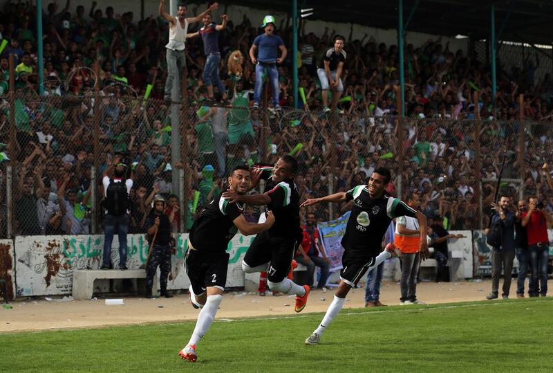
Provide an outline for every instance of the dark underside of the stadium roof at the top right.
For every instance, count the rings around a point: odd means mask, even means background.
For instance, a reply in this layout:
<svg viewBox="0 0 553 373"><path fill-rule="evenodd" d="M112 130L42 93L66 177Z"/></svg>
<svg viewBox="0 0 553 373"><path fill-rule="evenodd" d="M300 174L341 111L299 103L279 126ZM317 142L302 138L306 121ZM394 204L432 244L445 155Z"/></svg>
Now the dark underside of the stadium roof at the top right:
<svg viewBox="0 0 553 373"><path fill-rule="evenodd" d="M233 0L232 3L290 13L292 1ZM309 19L397 29L397 0L298 0L298 5L315 8L315 14ZM404 0L406 32L489 39L492 5L496 10L498 39L553 44L552 0Z"/></svg>

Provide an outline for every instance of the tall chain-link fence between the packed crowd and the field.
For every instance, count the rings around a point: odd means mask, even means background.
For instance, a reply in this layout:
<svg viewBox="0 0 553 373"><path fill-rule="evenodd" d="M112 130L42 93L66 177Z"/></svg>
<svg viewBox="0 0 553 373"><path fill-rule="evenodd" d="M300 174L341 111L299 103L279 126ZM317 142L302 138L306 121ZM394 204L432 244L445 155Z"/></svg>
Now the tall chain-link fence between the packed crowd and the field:
<svg viewBox="0 0 553 373"><path fill-rule="evenodd" d="M229 107L176 102L173 114L171 105L144 100L124 84L82 96L10 95L1 112L0 237L101 233L102 177L115 161L126 163L133 179L131 233L142 231L154 194L167 197L173 229L186 231L227 188L235 165L272 165L282 154L299 161L295 181L302 200L366 183L384 166L393 172L388 192L402 199L416 192L421 210L444 217L447 228L478 229L487 224L505 158L500 192L536 194L553 208L541 172L553 161L547 118L521 125L470 112L456 120L447 113L404 119L361 110L275 113L250 110L247 98ZM322 221L348 208L309 211ZM254 221L258 210L246 214Z"/></svg>

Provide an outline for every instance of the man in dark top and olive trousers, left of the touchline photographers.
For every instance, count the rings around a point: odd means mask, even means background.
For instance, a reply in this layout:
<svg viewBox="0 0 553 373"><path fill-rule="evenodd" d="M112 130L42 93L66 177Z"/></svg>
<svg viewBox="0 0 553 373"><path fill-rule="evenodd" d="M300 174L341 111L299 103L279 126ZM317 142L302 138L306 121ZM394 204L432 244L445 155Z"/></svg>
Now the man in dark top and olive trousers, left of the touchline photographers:
<svg viewBox="0 0 553 373"><path fill-rule="evenodd" d="M491 250L491 293L487 299L497 299L499 291L499 278L503 267L505 275L503 277L503 299L509 298L509 289L511 289L511 274L514 261L514 223L513 212L509 211L511 197L501 196L499 203L491 203L493 214L491 215L491 228L487 228L488 244L493 246ZM491 231L496 231L496 233ZM491 236L496 236L491 239Z"/></svg>

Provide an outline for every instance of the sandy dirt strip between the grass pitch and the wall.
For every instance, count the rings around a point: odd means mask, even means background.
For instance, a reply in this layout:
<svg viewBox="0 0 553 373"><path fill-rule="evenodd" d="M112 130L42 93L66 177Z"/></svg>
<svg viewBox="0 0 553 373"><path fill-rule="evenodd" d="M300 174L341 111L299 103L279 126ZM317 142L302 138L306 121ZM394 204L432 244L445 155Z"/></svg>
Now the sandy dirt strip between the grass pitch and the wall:
<svg viewBox="0 0 553 373"><path fill-rule="evenodd" d="M511 286L511 298L516 295L516 279ZM500 285L503 282L500 283ZM418 285L418 299L428 303L485 300L491 289L489 280L483 282L426 282ZM364 307L365 289L353 289L344 308ZM397 305L400 286L397 282L383 282L380 300ZM309 295L307 312L324 312L332 300L332 289L313 290ZM198 311L190 305L187 294L174 298L124 298L124 305L106 305L98 300L59 300L40 298L10 302L12 309L0 309L0 333L41 331L106 325L128 325L142 322L179 322L196 320ZM409 307L409 306L406 306ZM256 293L230 291L225 293L217 318L245 318L254 316L293 315L294 297L291 295L260 297Z"/></svg>

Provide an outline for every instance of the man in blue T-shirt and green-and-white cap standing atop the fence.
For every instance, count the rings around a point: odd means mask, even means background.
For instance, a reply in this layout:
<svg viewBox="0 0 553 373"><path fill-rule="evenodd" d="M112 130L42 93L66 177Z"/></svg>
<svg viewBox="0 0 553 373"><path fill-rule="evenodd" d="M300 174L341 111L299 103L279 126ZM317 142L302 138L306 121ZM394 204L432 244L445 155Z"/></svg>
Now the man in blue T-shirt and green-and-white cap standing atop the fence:
<svg viewBox="0 0 553 373"><path fill-rule="evenodd" d="M267 71L269 83L271 84L273 107L275 110L281 110L282 108L279 105L279 70L277 69L277 64L284 62L288 51L281 37L274 35L274 17L272 15L265 16L261 27L265 29L265 33L258 35L254 39L252 48L250 48L250 60L255 65L254 108L259 108L263 80L265 80L265 71ZM258 49L256 58L255 51ZM279 49L281 50L281 57L279 57Z"/></svg>

